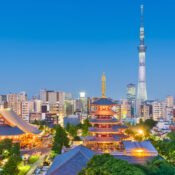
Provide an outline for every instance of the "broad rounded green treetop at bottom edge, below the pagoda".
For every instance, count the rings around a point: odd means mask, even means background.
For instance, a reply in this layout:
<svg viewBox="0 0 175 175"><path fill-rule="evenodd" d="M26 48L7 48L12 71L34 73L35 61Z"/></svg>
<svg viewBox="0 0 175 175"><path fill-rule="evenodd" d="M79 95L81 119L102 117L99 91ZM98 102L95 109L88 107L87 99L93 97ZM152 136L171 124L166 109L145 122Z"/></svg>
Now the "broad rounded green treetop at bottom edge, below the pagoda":
<svg viewBox="0 0 175 175"><path fill-rule="evenodd" d="M103 154L94 156L79 175L145 175L145 173L126 161Z"/></svg>

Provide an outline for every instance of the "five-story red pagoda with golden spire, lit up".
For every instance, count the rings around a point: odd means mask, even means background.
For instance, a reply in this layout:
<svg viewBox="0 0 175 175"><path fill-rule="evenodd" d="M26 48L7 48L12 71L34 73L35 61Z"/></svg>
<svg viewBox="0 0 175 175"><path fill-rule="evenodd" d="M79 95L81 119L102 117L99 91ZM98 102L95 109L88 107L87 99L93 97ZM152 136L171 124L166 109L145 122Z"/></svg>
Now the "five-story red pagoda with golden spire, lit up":
<svg viewBox="0 0 175 175"><path fill-rule="evenodd" d="M114 117L117 104L106 98L106 76L102 76L102 98L91 103L92 125L89 128L90 136L85 139L85 146L97 152L115 152L122 149L121 141L126 129L122 123Z"/></svg>

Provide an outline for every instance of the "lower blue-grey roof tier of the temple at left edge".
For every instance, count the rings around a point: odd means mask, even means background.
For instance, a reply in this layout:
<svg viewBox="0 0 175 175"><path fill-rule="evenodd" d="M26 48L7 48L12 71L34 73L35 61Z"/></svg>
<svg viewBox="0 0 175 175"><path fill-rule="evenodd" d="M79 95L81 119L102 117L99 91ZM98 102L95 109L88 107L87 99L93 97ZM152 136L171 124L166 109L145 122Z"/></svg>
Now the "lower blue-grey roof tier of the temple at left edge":
<svg viewBox="0 0 175 175"><path fill-rule="evenodd" d="M24 134L18 127L0 126L0 136L15 136Z"/></svg>

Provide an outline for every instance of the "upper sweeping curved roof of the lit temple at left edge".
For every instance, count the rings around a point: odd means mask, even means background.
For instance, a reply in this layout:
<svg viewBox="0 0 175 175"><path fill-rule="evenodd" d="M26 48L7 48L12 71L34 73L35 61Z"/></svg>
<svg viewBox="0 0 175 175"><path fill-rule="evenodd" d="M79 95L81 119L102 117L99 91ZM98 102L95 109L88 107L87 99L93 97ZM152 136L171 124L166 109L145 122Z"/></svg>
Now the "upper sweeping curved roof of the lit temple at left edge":
<svg viewBox="0 0 175 175"><path fill-rule="evenodd" d="M10 123L11 131L16 131L15 133L18 133L19 130L24 133L33 133L33 134L39 134L41 131L39 131L35 126L27 123L22 118L20 118L15 112L13 112L10 109L1 109L0 115L8 122ZM0 126L4 133L8 133L8 131L5 131L7 127ZM18 131L17 131L18 130ZM19 132L20 133L20 132Z"/></svg>

